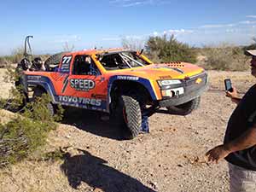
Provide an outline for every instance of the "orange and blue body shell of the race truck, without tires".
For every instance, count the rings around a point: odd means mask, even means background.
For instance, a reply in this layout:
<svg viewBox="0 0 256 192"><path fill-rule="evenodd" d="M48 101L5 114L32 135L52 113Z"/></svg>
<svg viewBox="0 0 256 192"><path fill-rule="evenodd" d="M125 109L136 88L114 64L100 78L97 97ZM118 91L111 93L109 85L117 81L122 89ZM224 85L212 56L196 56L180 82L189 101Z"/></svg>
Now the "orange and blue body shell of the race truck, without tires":
<svg viewBox="0 0 256 192"><path fill-rule="evenodd" d="M99 55L122 54L126 51L128 50L108 49L66 53L55 72L26 71L24 84L26 88L39 86L46 90L53 103L107 113L112 100L110 93L116 81L140 84L148 91L150 102L158 103L160 107L189 102L196 96L201 96L207 88L207 73L203 68L190 63L154 64L146 56L132 51L133 55L146 64L107 70L99 59ZM73 73L78 55L89 56L96 73Z"/></svg>

